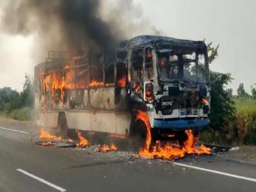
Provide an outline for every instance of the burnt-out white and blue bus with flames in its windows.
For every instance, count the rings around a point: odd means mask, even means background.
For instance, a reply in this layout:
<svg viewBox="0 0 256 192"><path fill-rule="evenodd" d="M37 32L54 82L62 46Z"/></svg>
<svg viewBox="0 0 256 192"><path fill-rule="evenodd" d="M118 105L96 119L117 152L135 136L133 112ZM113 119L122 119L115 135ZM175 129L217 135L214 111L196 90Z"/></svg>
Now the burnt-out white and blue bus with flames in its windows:
<svg viewBox="0 0 256 192"><path fill-rule="evenodd" d="M210 77L203 41L143 35L121 41L115 55L49 51L35 66L35 124L152 138L194 136L210 123ZM196 137L195 137L196 138Z"/></svg>

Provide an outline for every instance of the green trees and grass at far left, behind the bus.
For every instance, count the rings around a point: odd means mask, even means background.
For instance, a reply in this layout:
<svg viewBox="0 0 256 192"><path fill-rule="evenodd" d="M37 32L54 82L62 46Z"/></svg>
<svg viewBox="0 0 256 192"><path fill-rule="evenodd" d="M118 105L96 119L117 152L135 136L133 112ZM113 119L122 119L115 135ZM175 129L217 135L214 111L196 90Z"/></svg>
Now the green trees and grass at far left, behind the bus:
<svg viewBox="0 0 256 192"><path fill-rule="evenodd" d="M33 84L25 74L22 91L12 90L10 87L0 88L0 116L28 121L34 115Z"/></svg>

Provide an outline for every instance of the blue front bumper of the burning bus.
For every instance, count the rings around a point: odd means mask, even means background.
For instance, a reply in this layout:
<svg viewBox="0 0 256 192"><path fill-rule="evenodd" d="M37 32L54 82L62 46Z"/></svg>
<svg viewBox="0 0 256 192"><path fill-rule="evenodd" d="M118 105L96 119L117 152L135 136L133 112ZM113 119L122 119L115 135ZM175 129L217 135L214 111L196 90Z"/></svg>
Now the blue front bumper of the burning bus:
<svg viewBox="0 0 256 192"><path fill-rule="evenodd" d="M158 129L184 130L184 129L203 129L210 124L210 119L154 119L154 127Z"/></svg>

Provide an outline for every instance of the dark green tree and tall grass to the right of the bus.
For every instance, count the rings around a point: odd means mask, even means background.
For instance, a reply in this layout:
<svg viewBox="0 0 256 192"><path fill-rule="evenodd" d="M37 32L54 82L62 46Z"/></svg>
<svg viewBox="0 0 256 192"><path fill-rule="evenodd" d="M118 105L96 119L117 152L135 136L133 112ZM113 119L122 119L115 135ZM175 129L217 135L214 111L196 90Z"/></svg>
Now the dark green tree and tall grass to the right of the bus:
<svg viewBox="0 0 256 192"><path fill-rule="evenodd" d="M218 48L208 44L210 63L218 57ZM232 81L231 74L210 71L210 78L211 123L201 133L200 140L215 144L256 144L256 84L251 86L251 93L240 84L233 95L233 90L226 88Z"/></svg>

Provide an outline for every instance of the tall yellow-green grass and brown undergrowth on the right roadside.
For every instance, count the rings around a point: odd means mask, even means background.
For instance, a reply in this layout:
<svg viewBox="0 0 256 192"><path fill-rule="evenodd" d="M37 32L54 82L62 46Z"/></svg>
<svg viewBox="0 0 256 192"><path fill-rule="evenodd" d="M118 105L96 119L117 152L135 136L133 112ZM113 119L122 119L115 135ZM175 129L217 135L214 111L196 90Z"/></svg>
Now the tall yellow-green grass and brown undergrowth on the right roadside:
<svg viewBox="0 0 256 192"><path fill-rule="evenodd" d="M236 98L235 116L224 130L214 131L211 128L204 130L200 140L207 143L256 145L256 99Z"/></svg>

